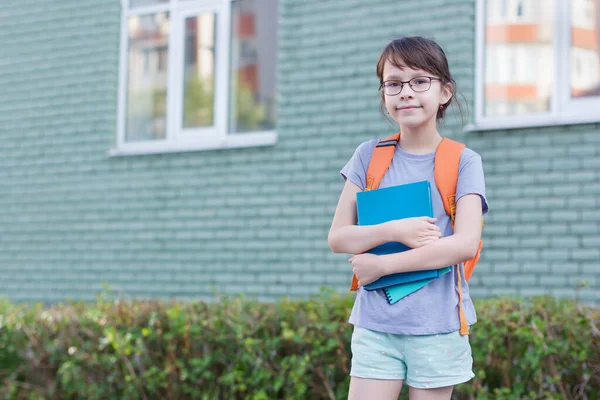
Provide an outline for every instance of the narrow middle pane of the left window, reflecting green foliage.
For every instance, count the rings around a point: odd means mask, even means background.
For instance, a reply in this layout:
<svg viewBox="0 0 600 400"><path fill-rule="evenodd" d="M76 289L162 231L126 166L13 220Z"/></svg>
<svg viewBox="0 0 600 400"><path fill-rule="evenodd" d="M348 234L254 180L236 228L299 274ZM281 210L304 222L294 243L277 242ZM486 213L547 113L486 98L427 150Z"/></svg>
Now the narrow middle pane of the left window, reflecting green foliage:
<svg viewBox="0 0 600 400"><path fill-rule="evenodd" d="M205 13L185 19L182 121L184 128L213 125L215 32L214 14Z"/></svg>

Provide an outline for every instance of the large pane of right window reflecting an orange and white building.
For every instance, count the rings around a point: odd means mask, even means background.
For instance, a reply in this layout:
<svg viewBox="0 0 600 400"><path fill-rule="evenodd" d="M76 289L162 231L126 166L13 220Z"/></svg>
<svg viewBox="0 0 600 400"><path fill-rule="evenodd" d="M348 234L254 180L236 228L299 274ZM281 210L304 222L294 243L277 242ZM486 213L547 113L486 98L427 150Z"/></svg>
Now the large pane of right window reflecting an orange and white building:
<svg viewBox="0 0 600 400"><path fill-rule="evenodd" d="M487 0L484 114L550 110L553 0Z"/></svg>

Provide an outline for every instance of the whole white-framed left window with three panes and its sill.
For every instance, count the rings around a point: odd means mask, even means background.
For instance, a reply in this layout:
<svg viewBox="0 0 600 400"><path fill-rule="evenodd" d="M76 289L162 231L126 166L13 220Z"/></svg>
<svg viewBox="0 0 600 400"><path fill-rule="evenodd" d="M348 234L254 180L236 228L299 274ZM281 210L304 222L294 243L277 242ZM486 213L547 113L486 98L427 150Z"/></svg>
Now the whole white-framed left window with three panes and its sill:
<svg viewBox="0 0 600 400"><path fill-rule="evenodd" d="M122 0L112 154L274 144L277 0Z"/></svg>

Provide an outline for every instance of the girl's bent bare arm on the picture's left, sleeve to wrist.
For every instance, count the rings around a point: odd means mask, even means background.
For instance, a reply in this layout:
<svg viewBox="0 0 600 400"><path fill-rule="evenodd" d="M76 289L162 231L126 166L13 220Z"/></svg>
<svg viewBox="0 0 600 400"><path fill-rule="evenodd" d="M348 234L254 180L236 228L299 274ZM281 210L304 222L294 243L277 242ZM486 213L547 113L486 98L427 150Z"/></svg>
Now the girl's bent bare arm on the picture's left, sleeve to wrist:
<svg viewBox="0 0 600 400"><path fill-rule="evenodd" d="M360 254L391 241L386 224L356 225L356 193L360 191L358 186L346 180L327 237L334 253Z"/></svg>

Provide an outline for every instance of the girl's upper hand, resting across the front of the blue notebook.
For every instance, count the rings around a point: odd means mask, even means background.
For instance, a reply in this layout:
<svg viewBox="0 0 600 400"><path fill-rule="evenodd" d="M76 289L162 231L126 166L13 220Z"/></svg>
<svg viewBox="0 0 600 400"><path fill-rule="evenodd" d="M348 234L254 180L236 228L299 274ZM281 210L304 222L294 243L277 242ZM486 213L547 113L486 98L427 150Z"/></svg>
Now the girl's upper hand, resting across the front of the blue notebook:
<svg viewBox="0 0 600 400"><path fill-rule="evenodd" d="M442 237L442 232L434 222L436 218L415 217L386 222L390 241L404 243L415 249L425 246Z"/></svg>

